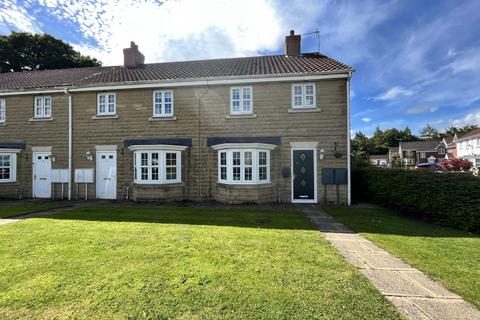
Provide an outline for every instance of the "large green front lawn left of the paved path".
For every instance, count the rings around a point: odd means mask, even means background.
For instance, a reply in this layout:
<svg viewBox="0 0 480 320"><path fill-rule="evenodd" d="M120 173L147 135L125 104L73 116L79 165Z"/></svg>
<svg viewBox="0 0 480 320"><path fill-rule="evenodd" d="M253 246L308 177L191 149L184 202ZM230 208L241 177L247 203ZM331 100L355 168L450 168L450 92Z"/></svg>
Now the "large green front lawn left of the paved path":
<svg viewBox="0 0 480 320"><path fill-rule="evenodd" d="M400 317L294 211L84 207L0 243L0 319Z"/></svg>

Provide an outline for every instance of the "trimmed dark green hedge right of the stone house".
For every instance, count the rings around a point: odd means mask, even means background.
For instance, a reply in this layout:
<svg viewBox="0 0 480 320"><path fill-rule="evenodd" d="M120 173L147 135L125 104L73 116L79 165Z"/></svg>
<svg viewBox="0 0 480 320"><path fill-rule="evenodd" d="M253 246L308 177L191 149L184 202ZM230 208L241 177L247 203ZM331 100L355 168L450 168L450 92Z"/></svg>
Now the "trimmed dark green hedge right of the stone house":
<svg viewBox="0 0 480 320"><path fill-rule="evenodd" d="M359 168L355 200L370 201L438 224L480 233L480 179L466 174Z"/></svg>

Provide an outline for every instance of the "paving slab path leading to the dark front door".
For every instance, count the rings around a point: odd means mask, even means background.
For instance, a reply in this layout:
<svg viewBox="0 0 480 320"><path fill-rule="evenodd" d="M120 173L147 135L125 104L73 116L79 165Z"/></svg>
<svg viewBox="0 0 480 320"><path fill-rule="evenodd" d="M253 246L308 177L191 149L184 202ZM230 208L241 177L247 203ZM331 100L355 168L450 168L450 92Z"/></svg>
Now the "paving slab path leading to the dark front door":
<svg viewBox="0 0 480 320"><path fill-rule="evenodd" d="M322 209L304 210L325 238L407 319L480 320L480 311L423 272L336 222Z"/></svg>

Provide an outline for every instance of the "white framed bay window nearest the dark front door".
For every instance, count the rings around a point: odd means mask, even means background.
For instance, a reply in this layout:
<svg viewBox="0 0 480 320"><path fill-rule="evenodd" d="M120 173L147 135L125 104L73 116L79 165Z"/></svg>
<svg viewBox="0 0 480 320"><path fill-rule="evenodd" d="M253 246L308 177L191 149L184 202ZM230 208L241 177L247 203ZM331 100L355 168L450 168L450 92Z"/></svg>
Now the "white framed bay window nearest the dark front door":
<svg viewBox="0 0 480 320"><path fill-rule="evenodd" d="M262 184L270 182L270 150L218 150L218 182Z"/></svg>

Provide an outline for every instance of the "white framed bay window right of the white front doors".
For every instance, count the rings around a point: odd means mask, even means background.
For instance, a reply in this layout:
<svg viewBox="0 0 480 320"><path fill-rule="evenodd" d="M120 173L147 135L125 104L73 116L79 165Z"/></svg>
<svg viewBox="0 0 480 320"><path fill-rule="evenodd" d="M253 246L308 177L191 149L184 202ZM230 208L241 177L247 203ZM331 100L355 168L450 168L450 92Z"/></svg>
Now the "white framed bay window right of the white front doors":
<svg viewBox="0 0 480 320"><path fill-rule="evenodd" d="M137 150L133 156L135 183L166 184L182 182L181 151Z"/></svg>

